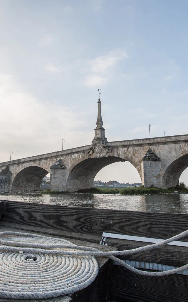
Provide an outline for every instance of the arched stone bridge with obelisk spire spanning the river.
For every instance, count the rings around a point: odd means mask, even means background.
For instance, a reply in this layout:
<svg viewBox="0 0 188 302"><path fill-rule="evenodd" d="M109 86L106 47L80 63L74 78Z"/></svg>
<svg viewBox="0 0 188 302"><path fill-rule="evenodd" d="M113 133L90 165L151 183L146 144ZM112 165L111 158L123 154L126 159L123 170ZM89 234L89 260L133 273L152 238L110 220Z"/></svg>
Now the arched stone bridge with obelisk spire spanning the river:
<svg viewBox="0 0 188 302"><path fill-rule="evenodd" d="M144 187L176 186L188 167L188 135L108 142L100 103L91 145L0 163L0 191L38 191L48 173L51 190L91 188L102 168L120 161L134 165Z"/></svg>

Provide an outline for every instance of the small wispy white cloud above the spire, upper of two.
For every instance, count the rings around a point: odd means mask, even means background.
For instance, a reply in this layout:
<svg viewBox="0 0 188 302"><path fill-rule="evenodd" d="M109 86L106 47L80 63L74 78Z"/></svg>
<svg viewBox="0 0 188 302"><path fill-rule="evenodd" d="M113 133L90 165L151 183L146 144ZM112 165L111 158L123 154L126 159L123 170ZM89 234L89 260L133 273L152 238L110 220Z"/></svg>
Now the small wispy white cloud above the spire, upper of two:
<svg viewBox="0 0 188 302"><path fill-rule="evenodd" d="M127 59L128 56L124 50L112 50L106 56L98 56L90 61L92 72L105 72L109 67L116 65L118 61Z"/></svg>

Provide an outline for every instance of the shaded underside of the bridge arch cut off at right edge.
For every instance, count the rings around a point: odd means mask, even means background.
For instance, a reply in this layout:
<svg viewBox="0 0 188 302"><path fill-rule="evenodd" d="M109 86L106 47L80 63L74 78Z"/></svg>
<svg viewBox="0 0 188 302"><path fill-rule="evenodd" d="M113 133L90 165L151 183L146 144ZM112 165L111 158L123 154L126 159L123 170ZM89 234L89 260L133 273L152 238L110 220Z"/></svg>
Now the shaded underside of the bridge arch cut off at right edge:
<svg viewBox="0 0 188 302"><path fill-rule="evenodd" d="M188 167L188 154L175 159L165 170L162 178L162 188L175 187L182 172Z"/></svg>

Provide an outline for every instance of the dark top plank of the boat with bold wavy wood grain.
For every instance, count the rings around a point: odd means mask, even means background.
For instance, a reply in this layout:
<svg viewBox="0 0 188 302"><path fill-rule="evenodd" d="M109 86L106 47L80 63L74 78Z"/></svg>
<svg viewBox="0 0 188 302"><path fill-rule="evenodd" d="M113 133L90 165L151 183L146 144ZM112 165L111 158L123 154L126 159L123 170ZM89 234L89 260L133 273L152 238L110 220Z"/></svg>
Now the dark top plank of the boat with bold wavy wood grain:
<svg viewBox="0 0 188 302"><path fill-rule="evenodd" d="M102 232L166 239L188 229L187 214L134 212L8 201L2 223L79 234ZM188 241L182 239L182 241Z"/></svg>

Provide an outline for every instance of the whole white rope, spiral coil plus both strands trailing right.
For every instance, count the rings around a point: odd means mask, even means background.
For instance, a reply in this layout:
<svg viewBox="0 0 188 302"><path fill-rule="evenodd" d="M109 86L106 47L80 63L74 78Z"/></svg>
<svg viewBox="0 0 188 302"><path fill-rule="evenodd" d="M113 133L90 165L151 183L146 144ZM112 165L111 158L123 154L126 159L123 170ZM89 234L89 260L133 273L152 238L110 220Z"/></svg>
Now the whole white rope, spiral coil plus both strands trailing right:
<svg viewBox="0 0 188 302"><path fill-rule="evenodd" d="M0 239L0 297L41 299L79 291L94 281L98 265L94 256L108 257L139 275L165 276L188 268L188 264L169 271L140 271L115 256L134 254L164 246L188 235L188 230L160 243L140 248L101 252L76 246L60 239L28 233L2 232Z"/></svg>

